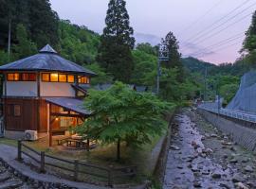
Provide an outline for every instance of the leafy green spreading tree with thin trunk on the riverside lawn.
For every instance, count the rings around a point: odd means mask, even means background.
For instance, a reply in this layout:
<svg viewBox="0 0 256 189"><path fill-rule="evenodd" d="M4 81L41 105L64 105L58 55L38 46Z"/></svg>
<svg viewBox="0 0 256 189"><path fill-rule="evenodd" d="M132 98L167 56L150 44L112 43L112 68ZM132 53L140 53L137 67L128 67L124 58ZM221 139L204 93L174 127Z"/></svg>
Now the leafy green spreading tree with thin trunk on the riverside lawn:
<svg viewBox="0 0 256 189"><path fill-rule="evenodd" d="M116 82L106 91L89 91L84 107L93 115L80 132L99 139L103 144L141 146L165 129L163 112L172 104L160 101L153 94L139 94L126 85ZM119 150L119 146L118 146ZM119 151L117 154L119 159Z"/></svg>

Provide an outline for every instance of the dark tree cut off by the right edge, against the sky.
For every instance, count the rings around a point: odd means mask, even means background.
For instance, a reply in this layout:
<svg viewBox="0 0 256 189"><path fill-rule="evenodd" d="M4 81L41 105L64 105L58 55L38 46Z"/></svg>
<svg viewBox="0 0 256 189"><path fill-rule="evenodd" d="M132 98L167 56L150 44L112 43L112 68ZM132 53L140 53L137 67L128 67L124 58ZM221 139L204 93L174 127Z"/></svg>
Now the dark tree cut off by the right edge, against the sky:
<svg viewBox="0 0 256 189"><path fill-rule="evenodd" d="M256 49L256 11L254 12L251 20L251 24L246 32L246 39L243 43L243 51L251 53Z"/></svg>

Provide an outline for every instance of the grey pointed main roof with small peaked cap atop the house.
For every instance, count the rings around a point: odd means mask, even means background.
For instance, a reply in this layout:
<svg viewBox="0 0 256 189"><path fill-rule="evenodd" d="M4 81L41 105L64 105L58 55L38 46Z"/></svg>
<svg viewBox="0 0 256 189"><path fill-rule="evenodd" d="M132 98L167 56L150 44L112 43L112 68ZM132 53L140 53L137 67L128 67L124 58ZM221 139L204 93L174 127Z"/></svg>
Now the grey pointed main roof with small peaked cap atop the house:
<svg viewBox="0 0 256 189"><path fill-rule="evenodd" d="M39 54L0 66L0 71L56 71L96 76L94 72L59 56L49 44Z"/></svg>

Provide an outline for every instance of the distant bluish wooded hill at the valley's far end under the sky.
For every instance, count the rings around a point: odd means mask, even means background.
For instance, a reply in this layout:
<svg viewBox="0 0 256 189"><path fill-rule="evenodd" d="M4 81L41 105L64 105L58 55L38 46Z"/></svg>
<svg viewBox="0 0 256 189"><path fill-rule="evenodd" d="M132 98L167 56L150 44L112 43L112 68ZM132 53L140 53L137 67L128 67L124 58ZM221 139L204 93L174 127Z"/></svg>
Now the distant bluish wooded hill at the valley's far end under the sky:
<svg viewBox="0 0 256 189"><path fill-rule="evenodd" d="M217 67L216 65L205 62L202 60L197 60L195 58L189 57L189 58L183 58L181 59L183 65L185 68L187 68L192 73L201 73L203 74L205 72L206 67L210 70L214 67Z"/></svg>

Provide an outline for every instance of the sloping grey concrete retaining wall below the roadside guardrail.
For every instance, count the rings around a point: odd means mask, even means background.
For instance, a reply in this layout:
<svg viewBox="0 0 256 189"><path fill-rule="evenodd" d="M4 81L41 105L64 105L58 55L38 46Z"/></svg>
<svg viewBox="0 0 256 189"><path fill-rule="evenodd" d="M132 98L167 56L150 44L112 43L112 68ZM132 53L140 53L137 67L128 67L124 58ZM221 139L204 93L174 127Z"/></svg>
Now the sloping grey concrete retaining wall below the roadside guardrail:
<svg viewBox="0 0 256 189"><path fill-rule="evenodd" d="M225 116L207 112L199 109L199 112L207 121L209 121L217 129L220 129L227 135L231 136L234 142L246 147L249 150L256 151L256 127L248 128L246 122L228 119Z"/></svg>

